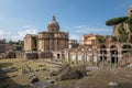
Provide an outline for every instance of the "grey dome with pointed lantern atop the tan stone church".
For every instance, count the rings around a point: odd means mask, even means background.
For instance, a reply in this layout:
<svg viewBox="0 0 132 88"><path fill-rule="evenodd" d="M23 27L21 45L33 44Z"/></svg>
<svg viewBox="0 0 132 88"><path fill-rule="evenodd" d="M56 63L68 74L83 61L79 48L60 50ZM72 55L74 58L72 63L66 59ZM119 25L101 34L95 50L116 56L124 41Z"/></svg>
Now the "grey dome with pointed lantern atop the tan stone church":
<svg viewBox="0 0 132 88"><path fill-rule="evenodd" d="M48 31L58 31L59 30L59 24L56 21L55 16L53 16L52 21L47 25Z"/></svg>

